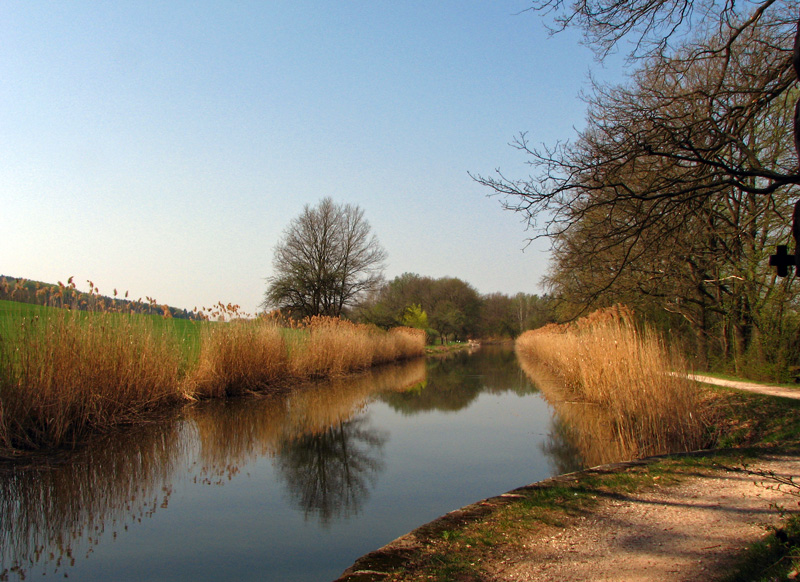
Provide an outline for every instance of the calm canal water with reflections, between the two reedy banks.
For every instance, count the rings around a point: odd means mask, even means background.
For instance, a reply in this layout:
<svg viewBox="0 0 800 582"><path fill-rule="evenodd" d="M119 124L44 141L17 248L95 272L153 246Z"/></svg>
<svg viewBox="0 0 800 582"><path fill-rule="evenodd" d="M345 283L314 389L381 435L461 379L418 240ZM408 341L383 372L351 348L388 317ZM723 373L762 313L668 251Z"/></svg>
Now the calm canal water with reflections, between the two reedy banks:
<svg viewBox="0 0 800 582"><path fill-rule="evenodd" d="M510 350L202 402L0 472L0 579L332 580L581 456Z"/></svg>

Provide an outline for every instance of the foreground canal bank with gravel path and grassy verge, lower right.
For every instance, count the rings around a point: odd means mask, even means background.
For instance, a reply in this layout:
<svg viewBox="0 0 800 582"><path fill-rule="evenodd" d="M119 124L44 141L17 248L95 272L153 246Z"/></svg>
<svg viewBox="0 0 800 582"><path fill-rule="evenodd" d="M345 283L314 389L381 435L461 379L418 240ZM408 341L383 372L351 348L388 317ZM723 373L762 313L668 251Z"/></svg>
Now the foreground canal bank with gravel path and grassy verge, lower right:
<svg viewBox="0 0 800 582"><path fill-rule="evenodd" d="M793 566L782 557L792 544L770 536L770 528L785 521L783 508L797 508L790 495L797 488L781 492L775 480L800 475L797 404L717 396L729 403L724 430L738 435L730 438L766 446L546 479L417 528L357 560L338 580L738 580L751 578L732 577L737 570L768 567L785 575ZM759 542L766 557L745 551Z"/></svg>

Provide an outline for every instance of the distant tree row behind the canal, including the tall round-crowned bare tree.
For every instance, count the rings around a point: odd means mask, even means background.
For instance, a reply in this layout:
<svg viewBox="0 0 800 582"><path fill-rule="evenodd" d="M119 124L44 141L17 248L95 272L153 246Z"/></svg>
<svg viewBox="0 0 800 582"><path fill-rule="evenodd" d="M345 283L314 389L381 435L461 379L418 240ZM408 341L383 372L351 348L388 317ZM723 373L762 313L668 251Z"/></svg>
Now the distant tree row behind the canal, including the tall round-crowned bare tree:
<svg viewBox="0 0 800 582"><path fill-rule="evenodd" d="M442 343L512 338L552 320L547 297L481 295L455 277L413 273L385 282L385 259L361 208L331 198L307 204L275 247L262 308L296 319L415 327Z"/></svg>

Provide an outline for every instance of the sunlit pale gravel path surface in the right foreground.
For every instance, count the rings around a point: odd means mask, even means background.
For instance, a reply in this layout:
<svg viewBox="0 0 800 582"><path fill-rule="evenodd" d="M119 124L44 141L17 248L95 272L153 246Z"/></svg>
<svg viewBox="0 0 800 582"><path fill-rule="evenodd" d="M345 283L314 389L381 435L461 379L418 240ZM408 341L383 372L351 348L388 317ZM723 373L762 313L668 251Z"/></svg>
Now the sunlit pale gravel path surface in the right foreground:
<svg viewBox="0 0 800 582"><path fill-rule="evenodd" d="M758 468L796 476L800 458L770 457ZM719 580L778 522L774 504L797 508L756 480L712 472L601 502L563 528L496 548L485 572L497 581Z"/></svg>

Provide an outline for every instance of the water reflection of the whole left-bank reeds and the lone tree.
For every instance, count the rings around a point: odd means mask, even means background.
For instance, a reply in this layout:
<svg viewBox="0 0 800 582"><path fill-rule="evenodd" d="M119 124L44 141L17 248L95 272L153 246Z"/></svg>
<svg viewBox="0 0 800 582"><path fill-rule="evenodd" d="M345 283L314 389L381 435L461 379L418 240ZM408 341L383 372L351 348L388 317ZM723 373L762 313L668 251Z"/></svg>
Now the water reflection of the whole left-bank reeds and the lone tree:
<svg viewBox="0 0 800 582"><path fill-rule="evenodd" d="M102 540L166 509L187 468L195 482L222 485L271 457L307 513L351 515L388 438L361 411L376 391L424 384L425 374L416 360L283 396L201 402L57 459L0 467L0 580L66 575Z"/></svg>

